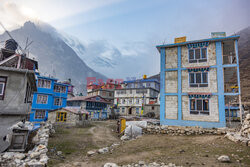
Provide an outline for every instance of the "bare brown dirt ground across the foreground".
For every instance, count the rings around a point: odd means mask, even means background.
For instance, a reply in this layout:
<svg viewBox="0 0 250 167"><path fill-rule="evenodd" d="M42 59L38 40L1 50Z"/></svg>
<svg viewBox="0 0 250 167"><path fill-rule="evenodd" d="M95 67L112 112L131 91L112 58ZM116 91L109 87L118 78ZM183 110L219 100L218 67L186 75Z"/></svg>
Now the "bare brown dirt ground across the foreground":
<svg viewBox="0 0 250 167"><path fill-rule="evenodd" d="M250 148L233 143L223 136L143 135L123 142L112 152L87 157L86 153L121 142L114 121L93 122L86 128L58 128L49 138L49 166L103 166L145 162L174 163L182 166L250 166ZM62 151L62 155L56 155ZM217 157L228 155L231 163Z"/></svg>

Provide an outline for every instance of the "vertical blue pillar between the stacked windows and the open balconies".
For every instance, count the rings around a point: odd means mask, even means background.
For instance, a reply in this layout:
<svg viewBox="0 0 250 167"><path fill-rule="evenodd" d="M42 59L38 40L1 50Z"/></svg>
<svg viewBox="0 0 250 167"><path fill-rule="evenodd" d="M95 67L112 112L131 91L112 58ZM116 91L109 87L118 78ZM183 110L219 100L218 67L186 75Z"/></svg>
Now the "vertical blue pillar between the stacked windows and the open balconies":
<svg viewBox="0 0 250 167"><path fill-rule="evenodd" d="M216 61L217 61L217 87L218 87L218 103L219 103L219 121L221 125L226 126L225 118L225 98L224 98L224 80L223 80L223 57L221 42L215 43Z"/></svg>

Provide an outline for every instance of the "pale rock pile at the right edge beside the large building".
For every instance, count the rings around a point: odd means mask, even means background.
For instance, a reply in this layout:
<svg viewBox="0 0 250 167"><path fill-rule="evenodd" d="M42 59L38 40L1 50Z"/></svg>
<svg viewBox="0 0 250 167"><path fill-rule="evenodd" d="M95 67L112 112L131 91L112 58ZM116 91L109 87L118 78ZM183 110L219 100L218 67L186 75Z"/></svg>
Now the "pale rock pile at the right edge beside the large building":
<svg viewBox="0 0 250 167"><path fill-rule="evenodd" d="M250 146L250 114L246 115L239 132L228 132L225 137L231 141L241 142L246 146Z"/></svg>

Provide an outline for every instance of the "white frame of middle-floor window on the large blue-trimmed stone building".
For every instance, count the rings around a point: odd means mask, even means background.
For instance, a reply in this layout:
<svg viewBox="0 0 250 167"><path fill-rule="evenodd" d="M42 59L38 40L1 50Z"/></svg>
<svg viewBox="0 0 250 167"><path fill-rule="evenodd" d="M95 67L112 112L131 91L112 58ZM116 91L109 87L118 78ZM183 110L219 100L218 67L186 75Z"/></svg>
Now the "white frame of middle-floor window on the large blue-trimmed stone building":
<svg viewBox="0 0 250 167"><path fill-rule="evenodd" d="M197 83L196 82L196 75L200 73L201 74L201 82L200 83ZM194 74L194 83L191 83L191 74ZM207 82L204 82L204 79L203 79L203 74L206 74L207 75ZM209 86L209 75L208 75L208 71L206 72L189 72L188 73L188 84L189 84L189 87L190 88L204 88L204 87L208 87Z"/></svg>

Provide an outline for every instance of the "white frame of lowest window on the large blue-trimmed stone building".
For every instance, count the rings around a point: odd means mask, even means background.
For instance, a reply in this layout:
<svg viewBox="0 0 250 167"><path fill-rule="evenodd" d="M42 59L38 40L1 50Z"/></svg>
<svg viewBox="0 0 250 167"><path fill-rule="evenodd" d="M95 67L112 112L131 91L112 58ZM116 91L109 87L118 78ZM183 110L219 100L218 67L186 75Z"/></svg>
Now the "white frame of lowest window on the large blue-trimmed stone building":
<svg viewBox="0 0 250 167"><path fill-rule="evenodd" d="M192 101L195 101L195 109L192 109ZM197 103L197 101L202 101L201 102L201 110L198 110L197 108L198 108L198 103ZM206 101L207 100L207 110L204 110L204 101ZM191 115L210 115L210 106L209 106L209 104L210 104L210 102L209 102L209 100L210 99L208 99L208 98L190 98L189 99L189 113L191 114Z"/></svg>

